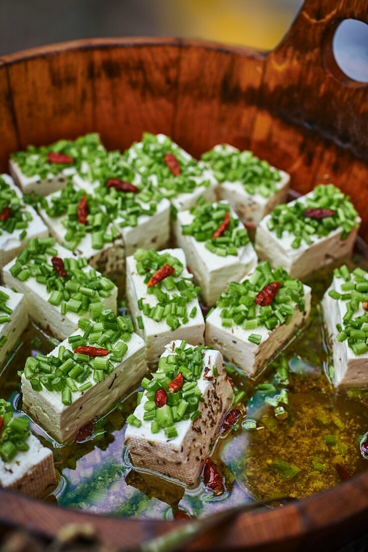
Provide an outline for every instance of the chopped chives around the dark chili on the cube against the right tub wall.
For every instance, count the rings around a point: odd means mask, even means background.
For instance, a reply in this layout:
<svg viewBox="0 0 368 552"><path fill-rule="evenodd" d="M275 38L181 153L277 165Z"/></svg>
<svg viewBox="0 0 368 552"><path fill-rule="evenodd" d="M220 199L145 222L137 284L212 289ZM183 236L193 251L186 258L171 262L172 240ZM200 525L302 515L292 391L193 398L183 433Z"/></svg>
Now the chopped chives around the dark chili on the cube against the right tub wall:
<svg viewBox="0 0 368 552"><path fill-rule="evenodd" d="M305 215L307 209L328 209L334 213L312 218ZM293 204L277 205L270 214L267 226L278 238L282 238L284 232L295 236L291 246L298 249L302 243L311 245L318 238L326 237L337 229L342 229L341 238L345 240L350 231L359 226L355 220L357 216L354 205L341 190L333 184L320 184L311 194Z"/></svg>

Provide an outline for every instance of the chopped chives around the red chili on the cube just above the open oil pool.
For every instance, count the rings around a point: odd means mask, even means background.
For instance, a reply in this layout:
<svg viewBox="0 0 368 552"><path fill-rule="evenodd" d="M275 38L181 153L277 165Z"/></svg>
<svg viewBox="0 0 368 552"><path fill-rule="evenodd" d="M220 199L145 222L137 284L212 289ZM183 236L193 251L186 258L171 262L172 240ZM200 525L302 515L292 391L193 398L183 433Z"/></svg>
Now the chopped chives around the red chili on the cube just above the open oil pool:
<svg viewBox="0 0 368 552"><path fill-rule="evenodd" d="M280 282L277 295L270 305L257 305L256 296L272 282ZM279 324L288 323L295 306L304 312L303 284L291 278L282 267L272 269L268 261L259 263L250 278L242 283L231 282L217 301L217 307L222 309L222 325L232 327L235 324L243 330L256 330L257 327L273 330ZM253 343L259 343L262 337L256 331L251 336Z"/></svg>

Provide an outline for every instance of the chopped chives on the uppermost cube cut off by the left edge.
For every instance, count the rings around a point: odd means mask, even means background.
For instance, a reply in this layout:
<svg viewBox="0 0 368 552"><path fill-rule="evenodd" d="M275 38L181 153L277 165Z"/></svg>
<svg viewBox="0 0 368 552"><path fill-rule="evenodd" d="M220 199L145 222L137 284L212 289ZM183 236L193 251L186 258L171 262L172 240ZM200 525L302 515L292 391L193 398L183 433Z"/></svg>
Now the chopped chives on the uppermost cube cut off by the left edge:
<svg viewBox="0 0 368 552"><path fill-rule="evenodd" d="M25 232L24 238L32 219L15 189L0 176L0 236L4 232L12 234L14 230L20 230Z"/></svg>

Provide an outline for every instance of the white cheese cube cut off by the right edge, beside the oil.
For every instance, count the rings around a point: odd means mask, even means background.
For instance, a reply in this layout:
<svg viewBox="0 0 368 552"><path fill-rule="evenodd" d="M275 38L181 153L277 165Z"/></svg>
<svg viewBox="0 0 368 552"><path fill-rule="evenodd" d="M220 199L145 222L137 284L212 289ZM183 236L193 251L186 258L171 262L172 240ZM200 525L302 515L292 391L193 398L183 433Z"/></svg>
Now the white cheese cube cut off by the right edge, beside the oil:
<svg viewBox="0 0 368 552"><path fill-rule="evenodd" d="M341 388L366 388L368 386L368 352L356 355L349 347L348 339L342 342L336 339L339 334L336 325L340 324L344 328L343 319L348 310L349 301L333 299L329 296L329 291L334 290L342 295L348 294L349 291L341 289L344 283L345 280L343 278L334 276L331 286L329 286L322 300L324 324L333 353L334 385ZM366 314L366 311L362 309L362 304L360 303L359 309L354 312L352 320L364 314Z"/></svg>

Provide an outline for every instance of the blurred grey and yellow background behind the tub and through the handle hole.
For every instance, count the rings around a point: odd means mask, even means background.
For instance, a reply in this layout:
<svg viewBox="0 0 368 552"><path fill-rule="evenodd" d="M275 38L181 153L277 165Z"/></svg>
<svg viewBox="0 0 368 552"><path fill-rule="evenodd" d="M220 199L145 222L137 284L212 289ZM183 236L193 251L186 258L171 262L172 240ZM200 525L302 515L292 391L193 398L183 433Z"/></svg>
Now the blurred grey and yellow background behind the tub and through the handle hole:
<svg viewBox="0 0 368 552"><path fill-rule="evenodd" d="M302 0L0 0L0 56L65 40L180 36L272 49ZM348 19L334 36L340 68L368 82L368 26Z"/></svg>

